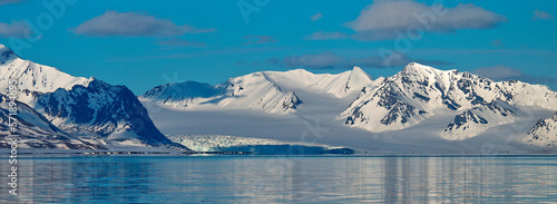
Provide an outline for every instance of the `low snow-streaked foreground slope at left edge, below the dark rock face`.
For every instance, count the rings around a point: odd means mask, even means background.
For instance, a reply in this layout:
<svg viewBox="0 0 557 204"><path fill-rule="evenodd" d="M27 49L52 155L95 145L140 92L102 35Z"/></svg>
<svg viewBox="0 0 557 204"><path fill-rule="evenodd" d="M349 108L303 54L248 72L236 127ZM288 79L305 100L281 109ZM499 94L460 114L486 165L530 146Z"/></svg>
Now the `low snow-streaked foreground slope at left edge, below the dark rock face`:
<svg viewBox="0 0 557 204"><path fill-rule="evenodd" d="M0 95L0 135L10 134L10 100ZM101 140L82 140L59 129L50 124L41 114L37 113L28 105L17 101L18 113L11 117L11 123L17 124L16 135L21 139L20 147L28 148L61 148L61 149L105 149ZM14 107L16 107L14 106ZM9 148L7 140L0 140L0 147Z"/></svg>

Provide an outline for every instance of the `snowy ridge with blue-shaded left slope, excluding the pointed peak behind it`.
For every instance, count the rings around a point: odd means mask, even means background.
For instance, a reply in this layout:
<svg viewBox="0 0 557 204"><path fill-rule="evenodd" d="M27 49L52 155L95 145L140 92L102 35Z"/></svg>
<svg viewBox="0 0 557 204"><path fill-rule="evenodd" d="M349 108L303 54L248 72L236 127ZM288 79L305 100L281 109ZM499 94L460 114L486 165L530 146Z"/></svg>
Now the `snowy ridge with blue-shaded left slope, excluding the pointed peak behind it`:
<svg viewBox="0 0 557 204"><path fill-rule="evenodd" d="M155 87L140 97L176 108L253 109L285 114L302 100L293 91L283 90L266 72L231 78L217 86L186 81Z"/></svg>

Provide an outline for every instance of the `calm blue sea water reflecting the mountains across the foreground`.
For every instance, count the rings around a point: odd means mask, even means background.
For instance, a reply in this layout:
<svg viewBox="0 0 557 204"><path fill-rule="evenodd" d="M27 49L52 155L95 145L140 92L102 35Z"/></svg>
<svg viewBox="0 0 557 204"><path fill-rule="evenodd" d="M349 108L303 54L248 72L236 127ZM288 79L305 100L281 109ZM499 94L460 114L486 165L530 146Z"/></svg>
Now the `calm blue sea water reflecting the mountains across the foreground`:
<svg viewBox="0 0 557 204"><path fill-rule="evenodd" d="M8 195L2 179L0 203L557 202L557 157L100 156L19 163L19 196Z"/></svg>

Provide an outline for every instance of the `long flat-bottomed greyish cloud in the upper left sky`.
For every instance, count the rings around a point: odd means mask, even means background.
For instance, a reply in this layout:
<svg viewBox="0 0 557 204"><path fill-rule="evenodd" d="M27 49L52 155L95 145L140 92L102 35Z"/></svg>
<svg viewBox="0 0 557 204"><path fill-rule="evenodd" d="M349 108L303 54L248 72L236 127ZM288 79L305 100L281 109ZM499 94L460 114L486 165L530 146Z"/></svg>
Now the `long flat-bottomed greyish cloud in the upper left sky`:
<svg viewBox="0 0 557 204"><path fill-rule="evenodd" d="M215 29L201 29L188 25L178 26L165 19L136 12L107 11L77 28L75 33L87 36L153 36L167 37L184 33L211 32Z"/></svg>

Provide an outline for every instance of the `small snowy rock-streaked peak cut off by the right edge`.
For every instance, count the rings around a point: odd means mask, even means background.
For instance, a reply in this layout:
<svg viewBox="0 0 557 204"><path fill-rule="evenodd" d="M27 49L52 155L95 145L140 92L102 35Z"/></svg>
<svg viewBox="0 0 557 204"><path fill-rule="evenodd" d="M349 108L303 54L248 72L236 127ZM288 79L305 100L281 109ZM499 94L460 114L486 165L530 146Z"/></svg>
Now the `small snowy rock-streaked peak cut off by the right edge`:
<svg viewBox="0 0 557 204"><path fill-rule="evenodd" d="M541 147L555 147L557 144L557 114L550 118L539 119L524 137L524 142Z"/></svg>

